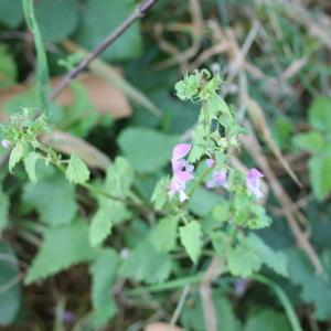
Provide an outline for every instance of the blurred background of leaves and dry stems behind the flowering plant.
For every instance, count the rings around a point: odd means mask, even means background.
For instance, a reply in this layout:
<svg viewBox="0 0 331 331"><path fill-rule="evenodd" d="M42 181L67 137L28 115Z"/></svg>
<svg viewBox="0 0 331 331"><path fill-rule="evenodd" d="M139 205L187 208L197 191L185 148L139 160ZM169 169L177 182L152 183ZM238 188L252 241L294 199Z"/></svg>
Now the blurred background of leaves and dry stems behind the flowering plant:
<svg viewBox="0 0 331 331"><path fill-rule="evenodd" d="M0 0L1 121L21 107L42 107L35 86L46 86L47 72L56 85L136 6L34 1L43 63L22 1ZM52 132L41 140L82 158L96 188L111 193L114 180L128 179L124 164L113 163L117 156L136 172L130 199L142 207L109 206L115 216L98 229L106 242L97 259L87 227L103 203L97 194L42 164L36 183L21 166L11 174L0 150L1 330L210 331L212 305L222 331L295 330L292 310L296 330L330 331L330 50L329 0L157 1L56 103L44 100ZM286 256L288 277L265 267L205 286L207 246L195 266L178 246L170 257L139 246L154 226L150 197L169 173L171 149L199 116L173 88L196 68L220 71L221 95L249 129L237 167L265 174L273 225L258 235L278 252L266 256L270 265ZM217 199L202 192L190 209L206 220ZM162 239L172 241L167 229Z"/></svg>

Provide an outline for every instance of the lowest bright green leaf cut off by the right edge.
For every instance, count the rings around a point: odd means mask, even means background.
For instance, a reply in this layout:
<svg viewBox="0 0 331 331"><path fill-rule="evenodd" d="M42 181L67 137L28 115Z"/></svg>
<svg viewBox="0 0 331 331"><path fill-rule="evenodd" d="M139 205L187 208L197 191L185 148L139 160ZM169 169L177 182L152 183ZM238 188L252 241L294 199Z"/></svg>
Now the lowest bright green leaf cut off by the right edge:
<svg viewBox="0 0 331 331"><path fill-rule="evenodd" d="M331 192L331 148L313 156L308 166L312 191L321 201Z"/></svg>

